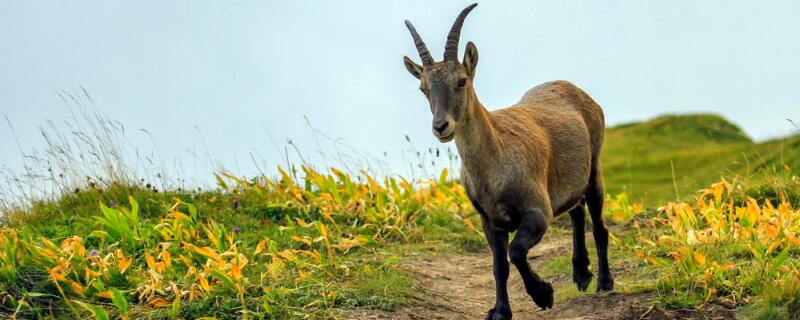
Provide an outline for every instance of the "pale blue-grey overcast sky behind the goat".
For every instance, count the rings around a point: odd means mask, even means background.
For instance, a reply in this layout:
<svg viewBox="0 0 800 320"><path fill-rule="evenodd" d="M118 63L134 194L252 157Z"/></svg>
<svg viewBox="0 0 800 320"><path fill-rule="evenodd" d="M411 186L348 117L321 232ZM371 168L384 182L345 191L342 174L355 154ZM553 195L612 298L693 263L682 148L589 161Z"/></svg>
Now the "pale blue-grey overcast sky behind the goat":
<svg viewBox="0 0 800 320"><path fill-rule="evenodd" d="M469 3L3 0L0 116L23 149L40 148L37 125L69 114L56 92L83 86L140 148L155 148L145 129L164 158L207 149L245 174L250 154L272 171L289 138L309 161L331 164L314 155L330 143L316 141L307 116L403 172L404 135L422 150L438 145L402 64L419 61L403 20L439 60ZM610 125L713 112L766 139L800 120L798 12L797 1L482 1L459 51L476 43L475 86L490 109L565 79ZM19 168L5 121L0 150L0 165Z"/></svg>

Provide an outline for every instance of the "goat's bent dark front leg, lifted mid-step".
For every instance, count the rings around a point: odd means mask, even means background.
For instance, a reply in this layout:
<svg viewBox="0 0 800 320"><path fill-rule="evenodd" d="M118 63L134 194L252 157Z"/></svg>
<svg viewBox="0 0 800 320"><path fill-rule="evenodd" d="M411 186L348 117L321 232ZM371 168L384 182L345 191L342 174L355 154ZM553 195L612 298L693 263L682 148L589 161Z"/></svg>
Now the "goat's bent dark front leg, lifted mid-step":
<svg viewBox="0 0 800 320"><path fill-rule="evenodd" d="M517 235L511 241L509 256L511 262L517 266L525 291L531 296L533 302L542 309L553 307L553 287L542 280L528 264L528 251L542 240L547 230L545 213L538 209L522 212Z"/></svg>

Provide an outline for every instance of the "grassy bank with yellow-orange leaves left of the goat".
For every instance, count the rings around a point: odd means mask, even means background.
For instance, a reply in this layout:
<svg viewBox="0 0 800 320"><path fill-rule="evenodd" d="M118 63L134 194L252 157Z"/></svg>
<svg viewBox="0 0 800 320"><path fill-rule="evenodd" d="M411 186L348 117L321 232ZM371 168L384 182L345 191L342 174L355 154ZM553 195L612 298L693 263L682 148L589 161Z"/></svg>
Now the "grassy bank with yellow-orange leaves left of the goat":
<svg viewBox="0 0 800 320"><path fill-rule="evenodd" d="M482 248L461 185L331 169L112 185L0 220L0 318L330 319L413 297L398 252Z"/></svg>

